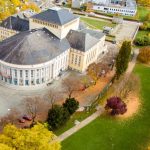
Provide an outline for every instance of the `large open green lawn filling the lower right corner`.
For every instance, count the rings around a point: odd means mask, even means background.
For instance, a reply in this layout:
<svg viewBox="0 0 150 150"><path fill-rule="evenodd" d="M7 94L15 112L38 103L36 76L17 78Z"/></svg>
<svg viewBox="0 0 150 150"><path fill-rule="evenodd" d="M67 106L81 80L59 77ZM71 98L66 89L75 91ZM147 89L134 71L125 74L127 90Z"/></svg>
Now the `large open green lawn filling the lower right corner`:
<svg viewBox="0 0 150 150"><path fill-rule="evenodd" d="M142 106L126 121L101 116L62 142L62 150L144 150L150 145L150 67L136 65Z"/></svg>

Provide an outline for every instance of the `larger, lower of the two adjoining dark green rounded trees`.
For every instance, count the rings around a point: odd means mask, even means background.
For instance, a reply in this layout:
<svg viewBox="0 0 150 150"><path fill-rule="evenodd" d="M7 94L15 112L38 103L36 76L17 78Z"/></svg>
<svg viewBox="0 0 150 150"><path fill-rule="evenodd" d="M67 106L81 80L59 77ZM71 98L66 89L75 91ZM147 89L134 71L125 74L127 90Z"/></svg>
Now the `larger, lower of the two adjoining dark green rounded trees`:
<svg viewBox="0 0 150 150"><path fill-rule="evenodd" d="M70 114L67 109L60 105L54 105L48 112L47 122L50 129L54 130L64 125Z"/></svg>

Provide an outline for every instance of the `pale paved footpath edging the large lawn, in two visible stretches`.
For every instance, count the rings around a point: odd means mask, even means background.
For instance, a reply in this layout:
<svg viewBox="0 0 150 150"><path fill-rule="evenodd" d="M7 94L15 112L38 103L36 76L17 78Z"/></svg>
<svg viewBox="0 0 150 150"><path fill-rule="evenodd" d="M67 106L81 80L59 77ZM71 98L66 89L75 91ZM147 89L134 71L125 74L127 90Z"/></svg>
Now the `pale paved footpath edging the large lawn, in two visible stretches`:
<svg viewBox="0 0 150 150"><path fill-rule="evenodd" d="M136 49L134 51L135 55L134 55L132 61L129 63L129 67L128 67L127 71L126 71L126 76L127 77L131 74L132 70L134 69L138 53L139 53L139 49ZM64 132L63 134L61 134L55 140L59 140L60 142L63 141L63 140L65 140L66 138L68 138L69 136L71 136L72 134L74 134L75 132L79 131L81 128L85 127L90 122L92 122L93 120L95 120L98 116L100 116L103 113L103 111L104 111L104 108L101 107L94 114L92 114L91 116L89 116L88 118L86 118L85 120L83 120L82 122L80 122L78 125L72 127L71 129L69 129L66 132Z"/></svg>

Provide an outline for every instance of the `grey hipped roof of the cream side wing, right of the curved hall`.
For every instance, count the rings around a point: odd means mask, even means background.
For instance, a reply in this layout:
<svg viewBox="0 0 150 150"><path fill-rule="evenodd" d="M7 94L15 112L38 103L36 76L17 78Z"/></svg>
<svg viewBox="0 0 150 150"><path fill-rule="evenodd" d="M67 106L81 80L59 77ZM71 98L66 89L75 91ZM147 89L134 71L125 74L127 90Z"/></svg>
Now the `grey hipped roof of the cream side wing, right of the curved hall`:
<svg viewBox="0 0 150 150"><path fill-rule="evenodd" d="M82 31L71 30L67 35L67 39L72 48L85 52L97 44L103 36L104 34L101 32L90 29Z"/></svg>

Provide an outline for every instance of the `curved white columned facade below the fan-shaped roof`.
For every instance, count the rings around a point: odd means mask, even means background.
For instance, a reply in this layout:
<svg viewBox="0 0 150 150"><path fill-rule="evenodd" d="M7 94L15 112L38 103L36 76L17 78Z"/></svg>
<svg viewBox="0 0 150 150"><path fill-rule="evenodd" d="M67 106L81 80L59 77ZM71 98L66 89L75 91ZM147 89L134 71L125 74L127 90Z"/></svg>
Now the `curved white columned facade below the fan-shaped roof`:
<svg viewBox="0 0 150 150"><path fill-rule="evenodd" d="M0 61L0 82L16 87L47 85L67 69L68 61L63 60L68 59L68 53L69 50L49 62L37 65L15 65Z"/></svg>

